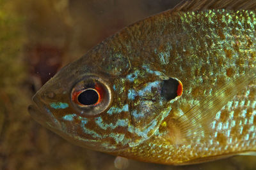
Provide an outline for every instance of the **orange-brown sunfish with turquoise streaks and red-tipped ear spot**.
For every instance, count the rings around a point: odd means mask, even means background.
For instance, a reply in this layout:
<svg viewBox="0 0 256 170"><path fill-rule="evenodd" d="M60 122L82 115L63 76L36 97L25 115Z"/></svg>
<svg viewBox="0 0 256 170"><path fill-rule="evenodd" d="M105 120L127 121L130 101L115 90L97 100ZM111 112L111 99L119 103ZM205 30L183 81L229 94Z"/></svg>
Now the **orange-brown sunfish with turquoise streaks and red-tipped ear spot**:
<svg viewBox="0 0 256 170"><path fill-rule="evenodd" d="M75 145L157 164L256 153L256 1L183 1L63 67L28 108Z"/></svg>

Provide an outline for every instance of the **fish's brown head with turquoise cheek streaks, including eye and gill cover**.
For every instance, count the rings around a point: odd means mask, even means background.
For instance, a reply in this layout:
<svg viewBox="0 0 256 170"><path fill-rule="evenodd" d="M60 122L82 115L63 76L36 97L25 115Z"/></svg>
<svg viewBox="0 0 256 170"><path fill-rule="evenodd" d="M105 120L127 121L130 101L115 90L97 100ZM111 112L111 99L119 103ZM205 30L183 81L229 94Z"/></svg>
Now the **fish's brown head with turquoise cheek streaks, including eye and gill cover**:
<svg viewBox="0 0 256 170"><path fill-rule="evenodd" d="M115 152L140 145L171 110L174 97L164 95L170 78L145 64L132 67L121 50L99 49L47 81L33 97L29 112L79 146Z"/></svg>

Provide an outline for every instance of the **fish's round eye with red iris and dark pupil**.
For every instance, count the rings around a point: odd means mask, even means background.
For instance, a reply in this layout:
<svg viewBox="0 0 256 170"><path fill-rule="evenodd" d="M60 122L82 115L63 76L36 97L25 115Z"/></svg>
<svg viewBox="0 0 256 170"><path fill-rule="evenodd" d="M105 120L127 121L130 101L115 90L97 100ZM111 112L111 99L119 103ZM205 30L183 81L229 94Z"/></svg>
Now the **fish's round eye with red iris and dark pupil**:
<svg viewBox="0 0 256 170"><path fill-rule="evenodd" d="M102 78L86 76L72 88L71 101L81 115L98 115L111 104L111 90Z"/></svg>

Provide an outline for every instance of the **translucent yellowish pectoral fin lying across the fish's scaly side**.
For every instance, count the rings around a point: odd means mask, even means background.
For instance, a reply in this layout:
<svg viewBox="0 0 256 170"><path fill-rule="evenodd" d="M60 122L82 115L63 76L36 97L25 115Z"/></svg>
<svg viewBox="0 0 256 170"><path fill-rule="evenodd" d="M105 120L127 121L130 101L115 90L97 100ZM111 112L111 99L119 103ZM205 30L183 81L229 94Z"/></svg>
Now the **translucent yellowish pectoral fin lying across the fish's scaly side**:
<svg viewBox="0 0 256 170"><path fill-rule="evenodd" d="M253 80L256 80L256 67L253 67L246 74L237 76L232 81L227 81L222 87L214 90L212 96L196 104L178 118L177 125L179 125L182 136L180 142L198 142L198 139L209 138L209 134L212 134L210 124L216 113Z"/></svg>

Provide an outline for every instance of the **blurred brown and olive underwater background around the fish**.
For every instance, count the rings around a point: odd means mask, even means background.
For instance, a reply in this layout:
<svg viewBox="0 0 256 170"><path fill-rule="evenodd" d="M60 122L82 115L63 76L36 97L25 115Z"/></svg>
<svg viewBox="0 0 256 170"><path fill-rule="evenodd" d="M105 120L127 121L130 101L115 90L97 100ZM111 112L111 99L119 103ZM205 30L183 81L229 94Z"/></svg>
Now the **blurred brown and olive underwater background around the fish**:
<svg viewBox="0 0 256 170"><path fill-rule="evenodd" d="M116 169L115 157L72 145L36 123L31 97L62 66L116 31L180 0L0 0L0 169ZM255 169L237 156L191 166L129 160L125 169Z"/></svg>

